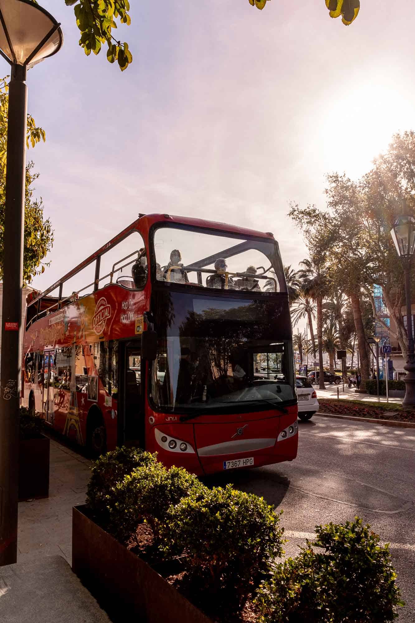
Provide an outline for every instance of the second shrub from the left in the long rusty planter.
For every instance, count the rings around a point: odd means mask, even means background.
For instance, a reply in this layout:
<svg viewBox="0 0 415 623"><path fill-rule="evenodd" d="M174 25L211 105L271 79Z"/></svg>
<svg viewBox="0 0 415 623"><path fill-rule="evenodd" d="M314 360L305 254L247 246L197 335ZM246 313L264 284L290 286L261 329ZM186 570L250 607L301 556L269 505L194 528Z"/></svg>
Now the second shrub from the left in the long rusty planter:
<svg viewBox="0 0 415 623"><path fill-rule="evenodd" d="M108 531L127 543L135 535L138 524L146 521L158 541L160 523L169 506L191 492L199 495L204 488L198 478L183 467L166 469L158 462L138 467L113 489L108 504Z"/></svg>

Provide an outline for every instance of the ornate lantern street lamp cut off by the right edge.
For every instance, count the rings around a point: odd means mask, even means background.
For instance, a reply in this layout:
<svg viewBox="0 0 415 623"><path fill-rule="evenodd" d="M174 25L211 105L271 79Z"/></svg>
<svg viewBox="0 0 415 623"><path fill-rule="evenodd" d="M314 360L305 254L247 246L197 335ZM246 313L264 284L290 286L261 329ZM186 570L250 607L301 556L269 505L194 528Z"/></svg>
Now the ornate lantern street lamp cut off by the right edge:
<svg viewBox="0 0 415 623"><path fill-rule="evenodd" d="M391 236L401 258L405 273L405 297L406 297L406 327L408 330L408 354L405 369L407 374L404 378L406 383L403 404L415 407L415 354L414 336L412 330L411 310L411 261L415 250L415 219L413 216L398 216L391 229Z"/></svg>

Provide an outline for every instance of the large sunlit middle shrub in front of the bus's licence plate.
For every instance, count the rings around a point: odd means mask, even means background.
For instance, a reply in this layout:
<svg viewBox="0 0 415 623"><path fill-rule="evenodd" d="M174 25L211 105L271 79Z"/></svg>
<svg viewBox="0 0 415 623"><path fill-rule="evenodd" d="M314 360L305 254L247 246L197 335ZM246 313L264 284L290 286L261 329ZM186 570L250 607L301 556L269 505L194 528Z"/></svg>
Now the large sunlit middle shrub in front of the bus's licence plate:
<svg viewBox="0 0 415 623"><path fill-rule="evenodd" d="M252 493L214 487L171 506L162 529L165 554L187 555L190 580L211 599L221 595L238 610L259 584L270 560L283 553L279 515Z"/></svg>

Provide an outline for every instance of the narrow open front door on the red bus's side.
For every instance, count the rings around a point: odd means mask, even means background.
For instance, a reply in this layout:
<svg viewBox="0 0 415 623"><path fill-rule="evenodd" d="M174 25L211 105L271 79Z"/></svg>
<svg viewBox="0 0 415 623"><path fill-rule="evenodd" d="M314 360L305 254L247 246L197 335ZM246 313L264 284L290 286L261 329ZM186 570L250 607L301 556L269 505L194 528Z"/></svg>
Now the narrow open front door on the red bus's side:
<svg viewBox="0 0 415 623"><path fill-rule="evenodd" d="M144 401L145 383L141 369L141 340L120 342L120 370L122 388L118 404L118 437L125 445L145 446Z"/></svg>

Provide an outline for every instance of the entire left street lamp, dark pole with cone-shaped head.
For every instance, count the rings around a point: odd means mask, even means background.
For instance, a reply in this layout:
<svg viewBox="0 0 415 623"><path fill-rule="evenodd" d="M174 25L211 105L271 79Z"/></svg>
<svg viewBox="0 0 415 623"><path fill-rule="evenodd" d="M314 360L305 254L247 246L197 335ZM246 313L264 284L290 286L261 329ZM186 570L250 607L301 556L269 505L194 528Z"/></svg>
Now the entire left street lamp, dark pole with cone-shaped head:
<svg viewBox="0 0 415 623"><path fill-rule="evenodd" d="M0 376L0 566L17 559L27 69L62 47L60 24L30 0L0 0L0 55L11 65Z"/></svg>

